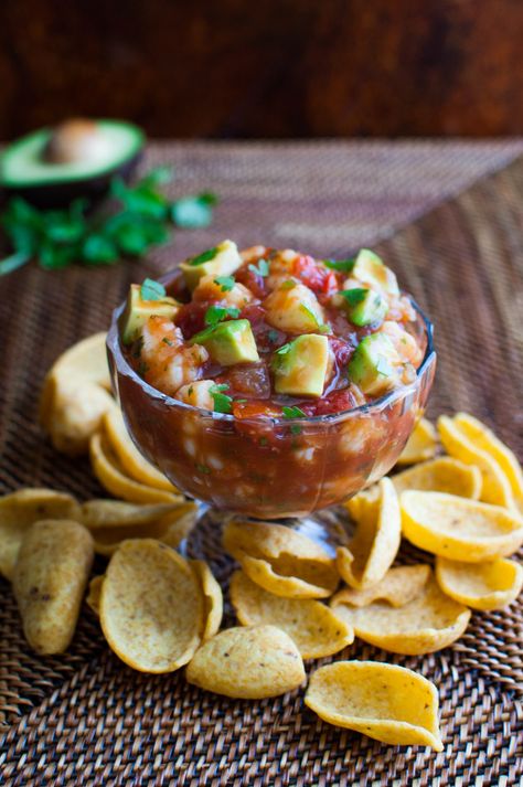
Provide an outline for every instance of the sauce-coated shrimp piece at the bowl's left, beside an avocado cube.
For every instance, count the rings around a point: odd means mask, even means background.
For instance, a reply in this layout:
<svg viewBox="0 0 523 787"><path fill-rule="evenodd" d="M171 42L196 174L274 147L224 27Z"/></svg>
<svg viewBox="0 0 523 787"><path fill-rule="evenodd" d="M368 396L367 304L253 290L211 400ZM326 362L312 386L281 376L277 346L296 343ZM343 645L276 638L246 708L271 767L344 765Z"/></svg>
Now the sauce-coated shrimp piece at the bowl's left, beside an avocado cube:
<svg viewBox="0 0 523 787"><path fill-rule="evenodd" d="M150 317L141 329L140 343L143 379L168 395L198 380L209 360L205 348L188 345L180 328L167 317Z"/></svg>

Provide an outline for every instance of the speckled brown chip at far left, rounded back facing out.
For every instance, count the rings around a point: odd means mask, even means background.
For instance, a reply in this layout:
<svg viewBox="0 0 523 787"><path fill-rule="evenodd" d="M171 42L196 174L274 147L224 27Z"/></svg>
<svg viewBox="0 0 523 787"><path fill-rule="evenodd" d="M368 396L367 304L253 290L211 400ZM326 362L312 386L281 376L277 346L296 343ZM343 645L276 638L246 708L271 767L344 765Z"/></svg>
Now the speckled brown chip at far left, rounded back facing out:
<svg viewBox="0 0 523 787"><path fill-rule="evenodd" d="M25 639L38 653L67 649L93 555L89 532L77 522L42 520L25 532L12 582Z"/></svg>

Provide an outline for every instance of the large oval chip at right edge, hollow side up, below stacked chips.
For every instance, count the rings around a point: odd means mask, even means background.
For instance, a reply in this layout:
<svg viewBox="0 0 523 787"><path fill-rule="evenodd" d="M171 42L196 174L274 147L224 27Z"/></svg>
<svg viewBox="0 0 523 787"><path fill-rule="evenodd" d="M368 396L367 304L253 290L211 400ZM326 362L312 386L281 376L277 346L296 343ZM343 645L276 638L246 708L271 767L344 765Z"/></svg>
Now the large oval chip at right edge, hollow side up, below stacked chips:
<svg viewBox="0 0 523 787"><path fill-rule="evenodd" d="M466 563L505 557L523 543L523 519L499 506L444 492L403 492L405 538L435 555Z"/></svg>

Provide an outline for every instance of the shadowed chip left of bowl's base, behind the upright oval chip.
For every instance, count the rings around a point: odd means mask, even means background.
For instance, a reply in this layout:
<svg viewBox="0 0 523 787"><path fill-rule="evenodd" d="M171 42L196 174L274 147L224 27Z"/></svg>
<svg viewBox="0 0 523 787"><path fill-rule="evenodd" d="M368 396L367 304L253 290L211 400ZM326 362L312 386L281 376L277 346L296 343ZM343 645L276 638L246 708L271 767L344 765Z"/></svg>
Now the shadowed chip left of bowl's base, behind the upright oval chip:
<svg viewBox="0 0 523 787"><path fill-rule="evenodd" d="M92 531L95 552L109 557L124 541L129 539L156 539L163 544L177 547L193 528L194 510L194 503L186 502L179 506L178 510L152 522L95 529Z"/></svg>

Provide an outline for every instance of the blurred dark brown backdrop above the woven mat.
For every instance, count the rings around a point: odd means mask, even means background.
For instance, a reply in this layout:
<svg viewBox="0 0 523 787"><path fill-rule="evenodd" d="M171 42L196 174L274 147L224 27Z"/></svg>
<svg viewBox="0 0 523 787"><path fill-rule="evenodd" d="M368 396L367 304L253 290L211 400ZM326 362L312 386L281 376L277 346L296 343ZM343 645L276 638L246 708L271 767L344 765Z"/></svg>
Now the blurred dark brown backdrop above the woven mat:
<svg viewBox="0 0 523 787"><path fill-rule="evenodd" d="M2 0L0 139L523 134L522 0Z"/></svg>

